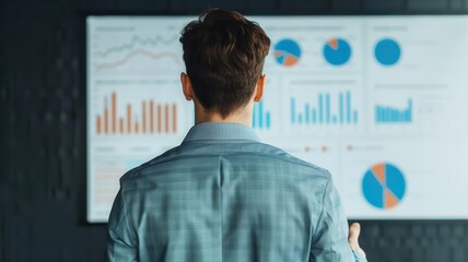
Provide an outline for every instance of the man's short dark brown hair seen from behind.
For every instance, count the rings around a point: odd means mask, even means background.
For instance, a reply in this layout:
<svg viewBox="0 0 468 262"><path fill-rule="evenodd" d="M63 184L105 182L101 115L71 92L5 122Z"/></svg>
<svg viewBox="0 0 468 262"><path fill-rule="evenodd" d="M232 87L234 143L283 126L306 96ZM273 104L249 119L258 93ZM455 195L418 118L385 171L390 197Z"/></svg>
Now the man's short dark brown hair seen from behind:
<svg viewBox="0 0 468 262"><path fill-rule="evenodd" d="M203 108L226 118L245 106L270 48L264 29L237 12L209 9L180 34L187 74Z"/></svg>

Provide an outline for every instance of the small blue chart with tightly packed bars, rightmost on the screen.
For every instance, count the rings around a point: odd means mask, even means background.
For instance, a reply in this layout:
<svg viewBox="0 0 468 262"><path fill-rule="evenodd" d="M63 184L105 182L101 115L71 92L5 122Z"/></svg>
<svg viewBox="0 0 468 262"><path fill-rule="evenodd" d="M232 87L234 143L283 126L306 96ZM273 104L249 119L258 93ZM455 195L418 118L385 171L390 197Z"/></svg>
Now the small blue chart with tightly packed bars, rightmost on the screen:
<svg viewBox="0 0 468 262"><path fill-rule="evenodd" d="M377 123L410 123L412 121L412 99L408 99L403 109L376 105L375 121Z"/></svg>

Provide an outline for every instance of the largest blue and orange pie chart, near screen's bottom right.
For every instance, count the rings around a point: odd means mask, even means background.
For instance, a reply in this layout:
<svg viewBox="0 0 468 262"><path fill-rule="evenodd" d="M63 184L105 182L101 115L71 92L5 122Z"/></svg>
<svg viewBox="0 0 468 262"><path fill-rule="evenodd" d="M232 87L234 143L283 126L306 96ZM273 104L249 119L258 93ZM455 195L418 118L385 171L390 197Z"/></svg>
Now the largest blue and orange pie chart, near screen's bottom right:
<svg viewBox="0 0 468 262"><path fill-rule="evenodd" d="M362 192L368 204L379 210L397 206L405 196L403 174L393 164L372 166L362 180Z"/></svg>

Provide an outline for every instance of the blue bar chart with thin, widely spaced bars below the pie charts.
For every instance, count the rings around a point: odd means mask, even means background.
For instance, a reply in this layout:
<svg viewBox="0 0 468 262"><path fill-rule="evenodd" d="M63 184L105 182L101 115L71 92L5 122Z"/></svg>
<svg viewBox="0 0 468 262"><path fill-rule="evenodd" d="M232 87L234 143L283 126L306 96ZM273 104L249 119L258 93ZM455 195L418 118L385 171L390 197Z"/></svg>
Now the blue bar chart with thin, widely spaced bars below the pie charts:
<svg viewBox="0 0 468 262"><path fill-rule="evenodd" d="M358 110L351 105L351 92L340 92L332 100L330 93L318 93L316 104L296 105L290 98L291 124L354 124L359 121Z"/></svg>

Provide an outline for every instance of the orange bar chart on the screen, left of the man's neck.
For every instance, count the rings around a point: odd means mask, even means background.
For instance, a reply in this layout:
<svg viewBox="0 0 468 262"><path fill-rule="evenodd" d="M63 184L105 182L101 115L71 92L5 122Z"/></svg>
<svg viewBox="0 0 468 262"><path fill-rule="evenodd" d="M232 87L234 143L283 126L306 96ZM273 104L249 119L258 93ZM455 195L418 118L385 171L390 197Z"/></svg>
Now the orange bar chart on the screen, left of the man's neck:
<svg viewBox="0 0 468 262"><path fill-rule="evenodd" d="M108 103L110 100L110 103ZM109 105L110 104L110 105ZM133 109L127 104L119 115L118 94L104 97L104 109L96 116L96 134L153 134L177 132L177 104L141 100ZM141 108L141 111L138 111Z"/></svg>

